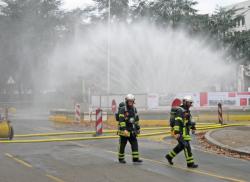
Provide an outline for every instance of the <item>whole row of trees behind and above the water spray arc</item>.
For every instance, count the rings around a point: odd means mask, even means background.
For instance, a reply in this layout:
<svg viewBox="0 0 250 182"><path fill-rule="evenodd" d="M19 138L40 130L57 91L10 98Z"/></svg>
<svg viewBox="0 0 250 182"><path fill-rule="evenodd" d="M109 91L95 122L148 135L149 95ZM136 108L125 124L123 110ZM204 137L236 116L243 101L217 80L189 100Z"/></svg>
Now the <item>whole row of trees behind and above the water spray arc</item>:
<svg viewBox="0 0 250 182"><path fill-rule="evenodd" d="M0 4L0 93L6 91L10 76L19 93L37 87L39 75L46 74L48 60L56 45L74 38L98 23L107 23L109 0L93 0L91 6L66 11L61 0L2 0ZM146 20L173 29L185 28L191 36L210 37L228 51L230 61L249 64L250 31L234 32L242 15L235 9L201 15L194 0L110 0L111 23ZM75 26L77 23L78 26ZM78 30L78 31L79 31ZM42 86L41 86L42 87Z"/></svg>

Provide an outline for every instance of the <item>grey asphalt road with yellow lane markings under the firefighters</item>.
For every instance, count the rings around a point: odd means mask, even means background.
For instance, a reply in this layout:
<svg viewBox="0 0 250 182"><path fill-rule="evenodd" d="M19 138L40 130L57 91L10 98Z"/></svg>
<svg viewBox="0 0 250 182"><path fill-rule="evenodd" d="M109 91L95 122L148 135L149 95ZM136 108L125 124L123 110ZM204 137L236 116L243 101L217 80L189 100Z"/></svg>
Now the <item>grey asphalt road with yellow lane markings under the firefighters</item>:
<svg viewBox="0 0 250 182"><path fill-rule="evenodd" d="M46 114L17 113L12 117L15 133L65 131L48 121ZM142 165L117 162L115 140L0 144L0 182L220 182L250 181L250 162L204 152L193 142L200 168L186 168L184 154L169 166L164 158L173 147L169 141L139 139Z"/></svg>

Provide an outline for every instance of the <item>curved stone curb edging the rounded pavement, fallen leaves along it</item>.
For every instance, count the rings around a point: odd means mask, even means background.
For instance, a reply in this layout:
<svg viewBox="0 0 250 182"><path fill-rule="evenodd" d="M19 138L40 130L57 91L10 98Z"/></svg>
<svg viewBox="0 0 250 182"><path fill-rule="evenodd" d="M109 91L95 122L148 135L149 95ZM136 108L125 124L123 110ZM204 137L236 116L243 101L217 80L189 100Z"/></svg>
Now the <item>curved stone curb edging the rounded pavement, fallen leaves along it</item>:
<svg viewBox="0 0 250 182"><path fill-rule="evenodd" d="M223 130L220 129L220 130ZM236 153L239 153L241 155L250 155L250 152L247 152L245 150L240 150L240 149L234 149L232 148L231 146L228 146L228 145L225 145L225 144L222 144L220 142L218 142L217 140L215 140L213 137L211 137L211 134L215 131L218 131L218 130L210 130L208 131L206 134L205 134L205 139L207 140L208 143L212 144L212 145L215 145L221 149L224 149L224 150L227 150L227 151L230 151L230 152L236 152Z"/></svg>

